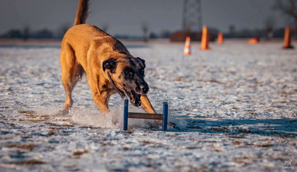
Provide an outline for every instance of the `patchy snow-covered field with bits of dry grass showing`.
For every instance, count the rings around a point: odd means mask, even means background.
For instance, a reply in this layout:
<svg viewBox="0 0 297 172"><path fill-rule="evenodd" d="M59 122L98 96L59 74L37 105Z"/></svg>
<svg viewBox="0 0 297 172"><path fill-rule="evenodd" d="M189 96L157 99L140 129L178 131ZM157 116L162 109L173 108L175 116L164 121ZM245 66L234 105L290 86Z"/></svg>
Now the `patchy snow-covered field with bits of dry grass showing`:
<svg viewBox="0 0 297 172"><path fill-rule="evenodd" d="M169 104L168 132L139 119L123 131L119 95L105 118L85 78L69 116L54 117L65 100L60 47L0 47L0 171L296 170L297 49L227 41L182 56L183 46L127 45L146 60L154 108ZM290 159L295 169L282 169Z"/></svg>

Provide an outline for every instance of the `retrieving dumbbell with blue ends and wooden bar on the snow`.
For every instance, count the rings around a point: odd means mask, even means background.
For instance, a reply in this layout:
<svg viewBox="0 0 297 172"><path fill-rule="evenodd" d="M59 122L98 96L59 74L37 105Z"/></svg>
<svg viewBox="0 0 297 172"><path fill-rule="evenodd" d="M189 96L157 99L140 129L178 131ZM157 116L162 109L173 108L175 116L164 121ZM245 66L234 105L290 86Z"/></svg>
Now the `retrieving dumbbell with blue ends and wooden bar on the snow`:
<svg viewBox="0 0 297 172"><path fill-rule="evenodd" d="M162 131L167 131L168 104L163 102L163 114L128 112L128 100L124 102L124 130L128 129L128 118L162 120Z"/></svg>

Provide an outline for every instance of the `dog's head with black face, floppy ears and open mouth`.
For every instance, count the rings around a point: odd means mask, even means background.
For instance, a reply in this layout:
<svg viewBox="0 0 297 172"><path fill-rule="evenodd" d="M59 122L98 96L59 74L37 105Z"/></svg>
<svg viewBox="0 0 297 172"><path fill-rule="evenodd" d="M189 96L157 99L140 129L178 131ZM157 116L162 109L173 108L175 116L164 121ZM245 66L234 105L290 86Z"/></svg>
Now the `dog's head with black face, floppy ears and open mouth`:
<svg viewBox="0 0 297 172"><path fill-rule="evenodd" d="M116 87L129 96L132 105L140 106L140 94L146 94L149 86L144 81L145 61L132 56L110 58L102 63L103 71L109 70Z"/></svg>

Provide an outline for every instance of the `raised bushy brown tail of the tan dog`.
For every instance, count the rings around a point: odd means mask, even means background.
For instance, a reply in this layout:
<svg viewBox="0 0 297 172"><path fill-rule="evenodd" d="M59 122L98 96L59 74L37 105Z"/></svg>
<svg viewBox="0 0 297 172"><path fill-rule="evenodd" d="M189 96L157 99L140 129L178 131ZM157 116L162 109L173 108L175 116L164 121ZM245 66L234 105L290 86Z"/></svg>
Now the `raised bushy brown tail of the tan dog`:
<svg viewBox="0 0 297 172"><path fill-rule="evenodd" d="M89 15L89 0L78 0L78 9L75 17L75 25L85 24Z"/></svg>

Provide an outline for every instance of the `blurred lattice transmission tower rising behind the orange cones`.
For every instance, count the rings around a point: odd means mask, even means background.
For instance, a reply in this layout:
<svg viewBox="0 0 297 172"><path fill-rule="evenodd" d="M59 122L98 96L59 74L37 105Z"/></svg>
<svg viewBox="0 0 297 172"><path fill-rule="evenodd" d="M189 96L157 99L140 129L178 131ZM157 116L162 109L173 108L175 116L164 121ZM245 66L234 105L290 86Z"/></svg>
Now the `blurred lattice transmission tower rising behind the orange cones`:
<svg viewBox="0 0 297 172"><path fill-rule="evenodd" d="M202 13L200 0L184 0L183 29L191 31L202 30Z"/></svg>

